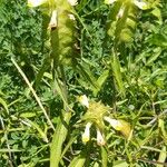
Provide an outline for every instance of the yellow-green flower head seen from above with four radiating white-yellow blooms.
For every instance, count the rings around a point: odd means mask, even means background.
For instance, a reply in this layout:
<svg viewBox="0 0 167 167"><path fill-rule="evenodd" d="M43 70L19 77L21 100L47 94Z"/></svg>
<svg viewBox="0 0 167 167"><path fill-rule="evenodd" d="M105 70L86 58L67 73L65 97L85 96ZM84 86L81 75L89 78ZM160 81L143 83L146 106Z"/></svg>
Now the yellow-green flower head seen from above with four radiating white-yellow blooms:
<svg viewBox="0 0 167 167"><path fill-rule="evenodd" d="M90 101L86 95L79 97L79 101L87 107L87 111L82 117L84 121L87 121L85 132L82 134L82 141L87 143L90 139L90 127L94 125L97 131L97 144L104 146L106 144L104 137L105 122L108 121L115 130L120 131L126 138L131 136L130 125L120 119L114 119L108 117L108 107L100 101Z"/></svg>

